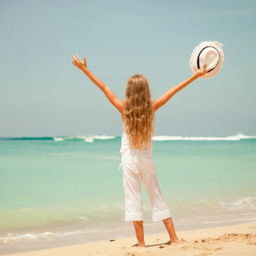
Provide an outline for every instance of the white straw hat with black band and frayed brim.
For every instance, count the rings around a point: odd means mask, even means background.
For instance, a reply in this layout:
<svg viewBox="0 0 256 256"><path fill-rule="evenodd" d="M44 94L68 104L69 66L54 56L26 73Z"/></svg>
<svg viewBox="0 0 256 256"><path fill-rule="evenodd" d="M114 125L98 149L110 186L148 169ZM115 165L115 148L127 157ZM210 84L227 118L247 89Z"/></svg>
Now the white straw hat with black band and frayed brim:
<svg viewBox="0 0 256 256"><path fill-rule="evenodd" d="M190 68L195 73L204 65L209 70L202 78L215 76L222 68L224 61L223 44L217 41L206 41L195 47L190 58Z"/></svg>

